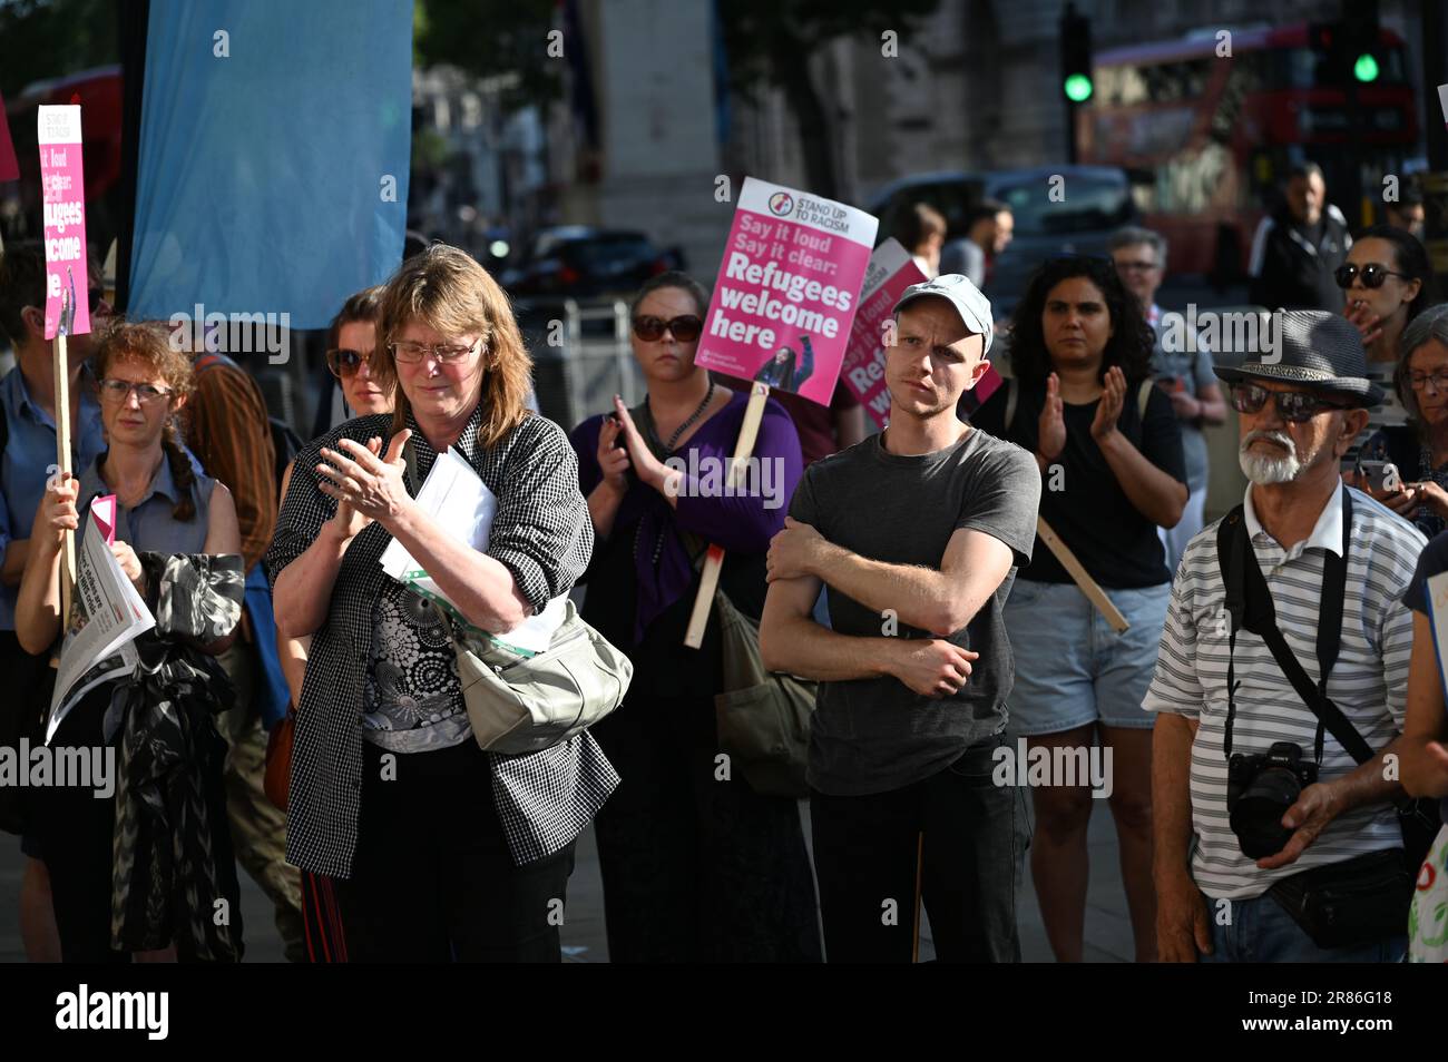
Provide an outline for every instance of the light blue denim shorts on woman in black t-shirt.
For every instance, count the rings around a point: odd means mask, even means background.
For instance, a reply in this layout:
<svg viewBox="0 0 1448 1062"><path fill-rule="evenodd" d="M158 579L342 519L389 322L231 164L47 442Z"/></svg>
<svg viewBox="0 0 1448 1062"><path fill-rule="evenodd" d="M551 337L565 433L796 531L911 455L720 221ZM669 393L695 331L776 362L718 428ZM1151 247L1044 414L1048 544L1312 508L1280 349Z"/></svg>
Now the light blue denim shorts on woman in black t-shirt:
<svg viewBox="0 0 1448 1062"><path fill-rule="evenodd" d="M1074 583L1015 580L1005 603L1015 658L1011 734L1060 734L1096 722L1148 729L1156 722L1141 702L1157 666L1171 583L1106 596L1131 625L1125 634Z"/></svg>

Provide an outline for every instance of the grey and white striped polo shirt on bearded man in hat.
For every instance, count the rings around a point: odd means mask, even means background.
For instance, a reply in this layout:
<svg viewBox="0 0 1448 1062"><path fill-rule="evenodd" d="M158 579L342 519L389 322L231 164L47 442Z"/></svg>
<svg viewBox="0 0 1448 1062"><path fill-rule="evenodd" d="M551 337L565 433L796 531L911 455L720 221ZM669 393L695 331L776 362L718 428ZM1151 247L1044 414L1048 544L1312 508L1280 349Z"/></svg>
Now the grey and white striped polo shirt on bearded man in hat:
<svg viewBox="0 0 1448 1062"><path fill-rule="evenodd" d="M1344 488L1347 489L1347 488ZM1312 534L1290 550L1263 528L1247 489L1247 531L1267 577L1277 626L1302 667L1318 681L1318 598L1326 551L1342 550L1342 490L1323 506ZM1142 705L1148 712L1174 712L1199 726L1192 742L1192 875L1213 899L1248 899L1279 878L1309 867L1402 845L1390 803L1357 807L1334 819L1302 857L1274 871L1257 868L1242 855L1226 815L1226 661L1231 621L1218 566L1213 522L1197 534L1182 557L1171 585L1171 608L1161 632L1157 670ZM1367 495L1352 492L1347 595L1342 603L1342 648L1328 677L1328 696L1342 709L1370 748L1381 749L1402 729L1407 697L1407 658L1413 641L1412 613L1402 602L1413 577L1423 535ZM1318 718L1302 703L1273 660L1267 644L1238 631L1232 654L1238 684L1232 752L1266 752L1274 741L1290 741L1312 758ZM1319 780L1357 768L1331 734L1323 738Z"/></svg>

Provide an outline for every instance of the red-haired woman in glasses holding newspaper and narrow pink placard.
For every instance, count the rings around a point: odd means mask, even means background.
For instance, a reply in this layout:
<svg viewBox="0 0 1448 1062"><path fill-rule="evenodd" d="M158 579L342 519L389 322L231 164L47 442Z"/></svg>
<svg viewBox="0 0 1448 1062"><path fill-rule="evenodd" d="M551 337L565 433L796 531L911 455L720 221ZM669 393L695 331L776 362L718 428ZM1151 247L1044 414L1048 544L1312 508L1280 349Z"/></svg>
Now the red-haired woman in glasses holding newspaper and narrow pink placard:
<svg viewBox="0 0 1448 1062"><path fill-rule="evenodd" d="M33 654L61 637L62 532L74 530L80 541L91 501L111 493L110 551L156 626L136 640L140 664L129 680L87 693L55 735L55 747L80 755L114 754L114 791L96 799L91 789L36 790L61 948L68 962L158 952L236 961L240 894L222 781L226 742L213 721L235 700L214 657L242 615L236 506L178 441L191 360L171 349L167 330L117 323L100 339L94 365L109 450L78 479L46 489L16 634ZM219 910L229 917L214 917Z"/></svg>

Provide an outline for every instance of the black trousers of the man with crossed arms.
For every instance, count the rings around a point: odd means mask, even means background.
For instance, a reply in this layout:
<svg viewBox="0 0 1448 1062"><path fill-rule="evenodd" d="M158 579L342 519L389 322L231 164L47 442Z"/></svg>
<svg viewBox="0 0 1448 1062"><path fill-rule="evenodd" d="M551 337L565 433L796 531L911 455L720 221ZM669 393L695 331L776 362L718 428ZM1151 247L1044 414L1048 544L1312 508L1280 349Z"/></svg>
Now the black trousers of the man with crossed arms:
<svg viewBox="0 0 1448 1062"><path fill-rule="evenodd" d="M1030 839L1025 797L992 780L1003 738L938 774L869 796L809 796L830 962L909 962L915 871L941 962L1019 962L1015 896Z"/></svg>

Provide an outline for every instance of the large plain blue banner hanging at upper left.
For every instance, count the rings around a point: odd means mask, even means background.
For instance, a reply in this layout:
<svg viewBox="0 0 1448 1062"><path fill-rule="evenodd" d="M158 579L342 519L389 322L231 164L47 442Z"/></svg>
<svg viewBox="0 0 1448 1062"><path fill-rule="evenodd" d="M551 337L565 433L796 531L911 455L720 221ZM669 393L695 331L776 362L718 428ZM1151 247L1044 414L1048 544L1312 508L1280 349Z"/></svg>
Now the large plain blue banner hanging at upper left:
<svg viewBox="0 0 1448 1062"><path fill-rule="evenodd" d="M127 315L324 327L403 256L410 0L152 0Z"/></svg>

